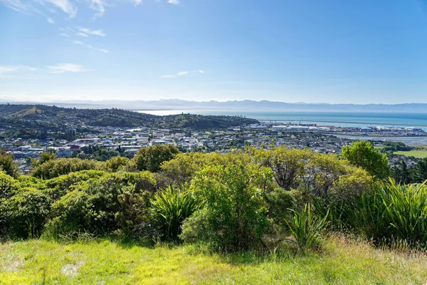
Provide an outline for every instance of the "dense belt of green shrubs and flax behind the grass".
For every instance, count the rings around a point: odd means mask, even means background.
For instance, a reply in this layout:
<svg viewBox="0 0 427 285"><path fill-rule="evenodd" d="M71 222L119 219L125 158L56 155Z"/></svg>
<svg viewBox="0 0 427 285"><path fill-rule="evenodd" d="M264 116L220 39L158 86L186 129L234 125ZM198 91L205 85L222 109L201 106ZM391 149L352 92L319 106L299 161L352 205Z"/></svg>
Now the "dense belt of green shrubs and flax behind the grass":
<svg viewBox="0 0 427 285"><path fill-rule="evenodd" d="M326 229L426 247L427 187L379 181L371 165L384 166L383 156L371 151L353 145L350 161L286 147L221 155L156 146L105 162L46 153L31 176L0 172L0 237L86 233L307 252Z"/></svg>

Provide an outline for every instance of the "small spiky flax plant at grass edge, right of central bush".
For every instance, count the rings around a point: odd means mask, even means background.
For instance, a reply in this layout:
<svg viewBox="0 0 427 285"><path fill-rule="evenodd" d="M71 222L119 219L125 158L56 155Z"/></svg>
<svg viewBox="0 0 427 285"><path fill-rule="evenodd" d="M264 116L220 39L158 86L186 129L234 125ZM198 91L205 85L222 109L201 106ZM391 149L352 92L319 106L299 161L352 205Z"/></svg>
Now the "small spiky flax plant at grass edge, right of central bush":
<svg viewBox="0 0 427 285"><path fill-rule="evenodd" d="M310 204L305 204L302 209L293 210L292 217L286 221L290 233L300 252L320 246L322 230L326 226L327 215L323 218L317 217L311 209Z"/></svg>

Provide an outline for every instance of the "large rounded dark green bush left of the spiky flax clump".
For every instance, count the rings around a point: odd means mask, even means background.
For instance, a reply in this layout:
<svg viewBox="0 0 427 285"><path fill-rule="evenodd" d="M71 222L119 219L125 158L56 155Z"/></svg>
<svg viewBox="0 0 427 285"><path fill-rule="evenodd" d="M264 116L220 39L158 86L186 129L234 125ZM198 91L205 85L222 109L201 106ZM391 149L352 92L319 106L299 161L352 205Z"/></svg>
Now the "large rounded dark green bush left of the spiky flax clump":
<svg viewBox="0 0 427 285"><path fill-rule="evenodd" d="M53 234L134 234L142 223L135 207L147 204L150 195L144 187L152 190L154 185L149 172L108 173L80 182L53 204L49 228Z"/></svg>

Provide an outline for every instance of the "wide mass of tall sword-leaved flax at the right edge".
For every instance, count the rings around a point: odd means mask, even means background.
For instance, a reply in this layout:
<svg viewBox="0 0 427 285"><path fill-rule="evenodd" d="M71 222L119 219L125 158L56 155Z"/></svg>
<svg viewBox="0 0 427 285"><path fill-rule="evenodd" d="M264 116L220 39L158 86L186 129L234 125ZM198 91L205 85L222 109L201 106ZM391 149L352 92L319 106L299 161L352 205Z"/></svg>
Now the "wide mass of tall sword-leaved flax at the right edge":
<svg viewBox="0 0 427 285"><path fill-rule="evenodd" d="M427 246L427 186L398 185L394 180L354 199L327 205L315 201L317 213L330 211L331 229L352 232L376 244Z"/></svg>

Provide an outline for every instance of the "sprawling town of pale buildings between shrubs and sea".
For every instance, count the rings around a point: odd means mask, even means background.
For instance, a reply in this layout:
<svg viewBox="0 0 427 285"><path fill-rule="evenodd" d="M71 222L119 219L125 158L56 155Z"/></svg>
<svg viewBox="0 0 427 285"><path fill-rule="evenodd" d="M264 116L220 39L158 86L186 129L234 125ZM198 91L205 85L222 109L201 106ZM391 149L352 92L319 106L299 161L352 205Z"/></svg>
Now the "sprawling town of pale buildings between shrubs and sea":
<svg viewBox="0 0 427 285"><path fill-rule="evenodd" d="M79 131L78 131L79 130ZM120 128L80 125L68 126L63 132L46 132L46 138L7 137L7 128L0 128L0 147L11 153L19 162L22 172L31 170L31 159L50 151L58 157L85 157L88 152L102 150L97 160L107 160L115 155L133 157L141 147L149 145L174 145L181 152L231 152L245 146L265 147L287 145L298 149L310 148L320 153L339 153L342 146L352 140L342 135L423 137L427 133L419 128L336 127L332 125L258 122L223 130L192 130L191 128ZM336 135L341 135L337 137ZM66 140L65 138L71 138ZM381 140L374 145L381 147ZM87 157L89 158L89 157ZM390 157L390 163L406 160L412 165L416 159Z"/></svg>

